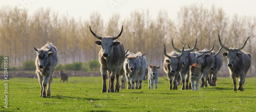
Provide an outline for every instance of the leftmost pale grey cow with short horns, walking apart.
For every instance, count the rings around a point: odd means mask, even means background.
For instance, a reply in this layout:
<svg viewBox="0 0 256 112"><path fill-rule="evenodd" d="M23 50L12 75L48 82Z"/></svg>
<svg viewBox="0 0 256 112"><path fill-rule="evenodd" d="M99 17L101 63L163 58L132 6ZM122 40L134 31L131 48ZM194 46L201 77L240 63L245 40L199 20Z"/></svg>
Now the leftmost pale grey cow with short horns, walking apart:
<svg viewBox="0 0 256 112"><path fill-rule="evenodd" d="M47 88L47 96L51 95L51 83L52 83L52 74L58 63L57 57L57 49L52 43L48 42L45 46L40 49L36 49L36 74L38 77L38 81L41 86L40 96L42 98L46 98L46 85L48 83Z"/></svg>

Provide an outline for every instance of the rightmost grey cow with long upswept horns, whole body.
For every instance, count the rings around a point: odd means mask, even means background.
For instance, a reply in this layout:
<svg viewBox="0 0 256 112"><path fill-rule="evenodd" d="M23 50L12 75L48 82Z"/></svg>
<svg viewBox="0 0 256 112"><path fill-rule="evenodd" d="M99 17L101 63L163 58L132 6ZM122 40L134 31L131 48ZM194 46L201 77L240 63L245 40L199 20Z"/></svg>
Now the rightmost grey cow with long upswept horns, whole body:
<svg viewBox="0 0 256 112"><path fill-rule="evenodd" d="M245 76L247 74L247 71L249 70L251 66L251 54L247 53L245 51L242 51L242 49L245 47L245 44L247 40L250 37L246 39L243 46L240 48L227 48L221 43L221 39L219 36L219 42L220 45L227 50L227 52L222 53L224 57L227 57L227 66L229 69L230 76L233 80L233 91L237 91L237 80L236 77L239 79L239 86L238 90L244 91L243 83L245 81Z"/></svg>

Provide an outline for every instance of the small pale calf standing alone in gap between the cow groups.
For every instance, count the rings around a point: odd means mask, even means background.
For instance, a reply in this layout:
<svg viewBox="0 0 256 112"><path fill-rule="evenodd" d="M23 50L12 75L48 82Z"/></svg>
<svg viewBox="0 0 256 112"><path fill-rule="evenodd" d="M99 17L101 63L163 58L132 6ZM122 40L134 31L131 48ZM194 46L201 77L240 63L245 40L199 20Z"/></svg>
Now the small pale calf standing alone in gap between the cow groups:
<svg viewBox="0 0 256 112"><path fill-rule="evenodd" d="M157 89L157 82L158 82L158 69L160 67L157 67L155 65L150 65L148 67L148 89L153 89L154 83L155 83L155 89Z"/></svg>

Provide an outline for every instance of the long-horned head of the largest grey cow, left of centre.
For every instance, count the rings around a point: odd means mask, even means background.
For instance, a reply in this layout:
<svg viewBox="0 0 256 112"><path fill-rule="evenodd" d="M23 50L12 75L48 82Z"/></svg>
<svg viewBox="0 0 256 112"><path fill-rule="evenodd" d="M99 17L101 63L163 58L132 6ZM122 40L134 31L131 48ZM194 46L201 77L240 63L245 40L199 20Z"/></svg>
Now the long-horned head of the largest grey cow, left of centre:
<svg viewBox="0 0 256 112"><path fill-rule="evenodd" d="M101 48L102 48L102 57L104 57L104 58L109 57L111 51L113 51L112 50L113 47L118 46L120 44L120 42L116 41L116 39L121 36L122 31L123 31L123 26L122 26L121 32L116 37L100 37L100 36L96 35L91 30L91 26L89 26L89 27L90 27L90 31L93 34L93 36L100 40L100 41L96 41L95 43L97 45L101 46Z"/></svg>

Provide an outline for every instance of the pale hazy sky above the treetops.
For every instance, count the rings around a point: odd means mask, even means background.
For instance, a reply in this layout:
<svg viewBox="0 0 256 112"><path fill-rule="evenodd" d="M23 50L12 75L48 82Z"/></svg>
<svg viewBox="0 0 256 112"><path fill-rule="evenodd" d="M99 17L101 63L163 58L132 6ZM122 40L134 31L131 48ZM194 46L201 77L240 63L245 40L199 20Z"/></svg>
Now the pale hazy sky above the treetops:
<svg viewBox="0 0 256 112"><path fill-rule="evenodd" d="M223 10L232 16L233 14L256 15L256 1L253 0L74 0L74 1L51 1L51 0L0 0L0 6L10 5L24 7L29 14L33 14L40 7L51 7L59 14L66 14L75 19L89 19L90 14L97 11L101 14L104 21L108 21L114 13L119 13L122 18L129 17L134 10L149 10L154 19L160 10L166 10L171 19L177 19L177 12L181 6L190 4L202 4L210 8L212 5L222 7Z"/></svg>

